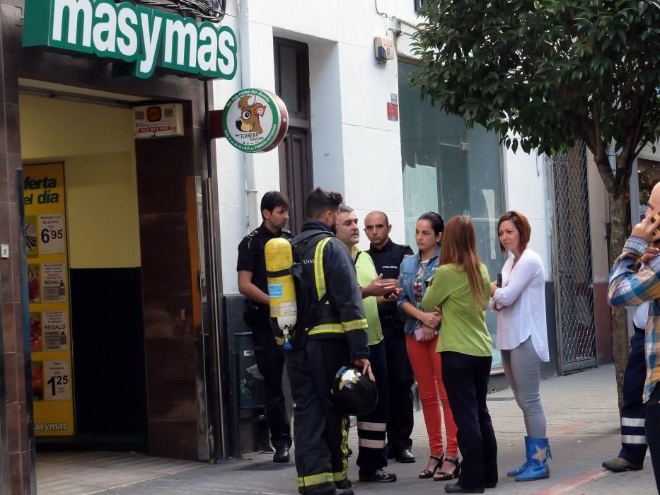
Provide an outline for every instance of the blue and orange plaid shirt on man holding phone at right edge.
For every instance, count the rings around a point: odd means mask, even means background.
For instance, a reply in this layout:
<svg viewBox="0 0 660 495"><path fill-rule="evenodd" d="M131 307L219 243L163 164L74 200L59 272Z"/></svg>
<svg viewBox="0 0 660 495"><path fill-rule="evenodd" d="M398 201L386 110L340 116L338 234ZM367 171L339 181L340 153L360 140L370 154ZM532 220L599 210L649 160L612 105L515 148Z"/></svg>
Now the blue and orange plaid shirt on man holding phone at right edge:
<svg viewBox="0 0 660 495"><path fill-rule="evenodd" d="M660 256L644 264L639 272L633 265L647 250L648 243L631 236L623 253L614 262L610 273L608 303L612 306L638 305L651 301L644 349L647 356L647 381L644 384L644 402L660 381Z"/></svg>

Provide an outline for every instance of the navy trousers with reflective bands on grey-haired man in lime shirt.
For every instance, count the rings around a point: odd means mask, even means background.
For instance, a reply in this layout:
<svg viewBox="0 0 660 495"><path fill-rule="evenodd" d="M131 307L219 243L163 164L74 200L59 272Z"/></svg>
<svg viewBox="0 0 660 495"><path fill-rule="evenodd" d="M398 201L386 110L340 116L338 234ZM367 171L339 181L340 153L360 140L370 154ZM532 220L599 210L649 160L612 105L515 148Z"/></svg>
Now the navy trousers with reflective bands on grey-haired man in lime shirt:
<svg viewBox="0 0 660 495"><path fill-rule="evenodd" d="M388 418L388 367L383 342L369 346L369 361L371 361L371 371L376 378L378 402L373 411L357 418L359 437L357 465L360 467L360 474L374 474L376 470L388 464L385 444Z"/></svg>

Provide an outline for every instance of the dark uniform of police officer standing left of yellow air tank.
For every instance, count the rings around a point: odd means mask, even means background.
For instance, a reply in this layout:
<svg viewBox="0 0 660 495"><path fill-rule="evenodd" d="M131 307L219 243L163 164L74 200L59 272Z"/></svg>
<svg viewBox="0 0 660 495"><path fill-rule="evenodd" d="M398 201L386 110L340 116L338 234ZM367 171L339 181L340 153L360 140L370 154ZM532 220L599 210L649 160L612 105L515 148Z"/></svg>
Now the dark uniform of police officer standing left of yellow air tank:
<svg viewBox="0 0 660 495"><path fill-rule="evenodd" d="M277 237L293 238L291 232L282 229L280 235L269 231L262 223L260 227L245 235L238 245L237 270L252 272L252 283L268 293L264 248L266 243ZM255 361L259 373L264 377L266 419L270 429L270 441L277 450L291 447L291 429L286 414L284 392L282 392L282 373L284 371L284 352L275 342L271 330L270 308L268 305L245 301L245 323L252 330L255 349Z"/></svg>

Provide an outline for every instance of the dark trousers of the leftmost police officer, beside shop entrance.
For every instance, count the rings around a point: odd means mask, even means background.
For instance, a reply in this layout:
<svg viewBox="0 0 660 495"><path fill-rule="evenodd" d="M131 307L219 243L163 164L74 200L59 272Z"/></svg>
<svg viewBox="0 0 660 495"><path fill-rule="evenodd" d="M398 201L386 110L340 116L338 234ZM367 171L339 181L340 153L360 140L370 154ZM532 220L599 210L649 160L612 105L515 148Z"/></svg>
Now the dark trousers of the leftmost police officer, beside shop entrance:
<svg viewBox="0 0 660 495"><path fill-rule="evenodd" d="M270 442L274 448L291 447L291 428L286 414L282 374L284 373L284 351L277 345L270 327L253 330L255 361L259 373L264 377L266 420L270 429Z"/></svg>

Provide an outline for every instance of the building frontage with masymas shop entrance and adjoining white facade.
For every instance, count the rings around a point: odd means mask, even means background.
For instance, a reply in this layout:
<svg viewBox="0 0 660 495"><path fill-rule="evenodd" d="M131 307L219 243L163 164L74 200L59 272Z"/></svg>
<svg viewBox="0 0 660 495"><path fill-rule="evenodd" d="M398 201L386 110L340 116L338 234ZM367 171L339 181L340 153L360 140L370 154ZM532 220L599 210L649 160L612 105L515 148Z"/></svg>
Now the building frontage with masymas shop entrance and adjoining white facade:
<svg viewBox="0 0 660 495"><path fill-rule="evenodd" d="M157 54L131 59L126 33L113 45L123 58L110 54L108 31L71 28L70 15L59 19L69 45L88 39L95 50L26 42L26 32L50 35L52 20L30 15L35 0L0 0L4 492L35 493L45 443L197 460L262 445L260 404L239 383L250 339L236 249L260 224L268 190L291 199L294 231L307 192L320 186L341 192L360 221L385 211L393 240L413 247L424 211L468 214L492 278L504 263L497 219L522 211L545 264L555 342L550 162L512 153L419 100L407 83L415 4L231 0L216 28L226 50L202 74L207 59L193 62L185 50L180 64L165 51L152 67ZM147 28L163 12L115 11ZM204 26L195 26L201 39ZM277 150L243 153L209 137L209 110L242 88L286 103L289 132ZM154 107L180 117L183 135L136 139L137 117L149 120ZM494 332L493 315L488 323ZM544 373L556 370L551 361ZM493 373L503 387L497 356Z"/></svg>

